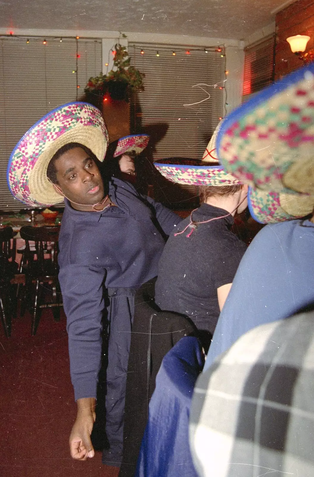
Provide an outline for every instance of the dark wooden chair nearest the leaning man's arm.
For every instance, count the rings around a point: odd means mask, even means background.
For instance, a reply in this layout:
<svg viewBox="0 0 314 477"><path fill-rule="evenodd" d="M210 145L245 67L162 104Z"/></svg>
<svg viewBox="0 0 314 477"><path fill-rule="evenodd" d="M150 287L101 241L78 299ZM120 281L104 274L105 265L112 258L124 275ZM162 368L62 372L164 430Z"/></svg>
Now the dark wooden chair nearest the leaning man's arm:
<svg viewBox="0 0 314 477"><path fill-rule="evenodd" d="M59 230L59 227L44 226L25 226L20 229L20 237L25 240L23 272L25 273L26 299L24 307L28 306L32 315L31 335L33 336L36 334L43 308L51 308L54 320L60 320L62 300L58 280ZM31 249L33 245L30 242L34 242L35 253ZM45 257L47 254L48 258ZM49 290L48 285L51 285L52 301L45 302L44 291Z"/></svg>

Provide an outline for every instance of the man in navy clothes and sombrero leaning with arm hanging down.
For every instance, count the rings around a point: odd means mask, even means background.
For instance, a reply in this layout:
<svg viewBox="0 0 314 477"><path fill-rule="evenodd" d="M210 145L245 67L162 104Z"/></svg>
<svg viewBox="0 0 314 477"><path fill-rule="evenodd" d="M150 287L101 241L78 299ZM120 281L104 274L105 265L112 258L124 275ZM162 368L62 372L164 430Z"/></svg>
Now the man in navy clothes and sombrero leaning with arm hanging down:
<svg viewBox="0 0 314 477"><path fill-rule="evenodd" d="M12 194L29 206L50 206L64 197L59 280L78 405L71 456L86 460L94 455L90 436L103 323L108 331L106 434L110 444L103 462L118 467L135 291L157 274L164 239L154 221L169 235L181 219L149 197L142 199L131 184L101 176L107 143L97 108L64 104L22 137L10 156L8 184Z"/></svg>

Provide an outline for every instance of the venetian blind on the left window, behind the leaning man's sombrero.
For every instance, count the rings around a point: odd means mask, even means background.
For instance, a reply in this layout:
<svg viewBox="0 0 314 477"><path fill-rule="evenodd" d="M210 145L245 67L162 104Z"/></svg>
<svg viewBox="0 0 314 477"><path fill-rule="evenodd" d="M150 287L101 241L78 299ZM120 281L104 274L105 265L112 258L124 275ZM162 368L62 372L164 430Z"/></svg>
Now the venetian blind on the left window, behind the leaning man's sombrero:
<svg viewBox="0 0 314 477"><path fill-rule="evenodd" d="M47 38L46 45L42 39L26 40L0 40L0 209L4 211L25 207L12 197L6 180L16 143L51 109L80 99L89 77L101 71L100 41L79 40L77 51L71 39Z"/></svg>

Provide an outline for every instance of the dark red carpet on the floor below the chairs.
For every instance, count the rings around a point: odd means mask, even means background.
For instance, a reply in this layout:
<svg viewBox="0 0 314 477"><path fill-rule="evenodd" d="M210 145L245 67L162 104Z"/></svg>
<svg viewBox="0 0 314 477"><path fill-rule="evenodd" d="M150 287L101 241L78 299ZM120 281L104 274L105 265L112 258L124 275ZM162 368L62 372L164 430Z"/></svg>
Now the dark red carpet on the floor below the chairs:
<svg viewBox="0 0 314 477"><path fill-rule="evenodd" d="M30 315L12 322L6 338L0 324L0 476L117 477L101 464L70 457L68 439L76 416L69 372L66 319L43 311L36 336Z"/></svg>

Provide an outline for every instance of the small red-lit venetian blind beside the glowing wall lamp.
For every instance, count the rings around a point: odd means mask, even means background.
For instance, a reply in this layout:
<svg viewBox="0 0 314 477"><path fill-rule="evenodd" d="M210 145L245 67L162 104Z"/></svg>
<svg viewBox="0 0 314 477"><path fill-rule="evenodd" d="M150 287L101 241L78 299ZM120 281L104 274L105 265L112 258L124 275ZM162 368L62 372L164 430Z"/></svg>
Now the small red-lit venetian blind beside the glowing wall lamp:
<svg viewBox="0 0 314 477"><path fill-rule="evenodd" d="M274 36L244 50L243 99L273 82Z"/></svg>

